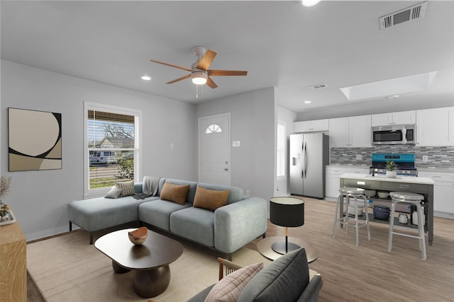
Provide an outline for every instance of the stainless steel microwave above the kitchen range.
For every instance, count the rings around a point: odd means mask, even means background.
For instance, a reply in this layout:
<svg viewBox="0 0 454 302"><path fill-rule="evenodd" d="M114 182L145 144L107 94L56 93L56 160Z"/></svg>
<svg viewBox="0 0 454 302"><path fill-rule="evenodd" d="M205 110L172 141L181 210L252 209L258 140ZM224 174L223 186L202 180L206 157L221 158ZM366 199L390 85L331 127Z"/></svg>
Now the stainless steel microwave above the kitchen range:
<svg viewBox="0 0 454 302"><path fill-rule="evenodd" d="M392 124L372 127L372 145L416 144L414 124Z"/></svg>

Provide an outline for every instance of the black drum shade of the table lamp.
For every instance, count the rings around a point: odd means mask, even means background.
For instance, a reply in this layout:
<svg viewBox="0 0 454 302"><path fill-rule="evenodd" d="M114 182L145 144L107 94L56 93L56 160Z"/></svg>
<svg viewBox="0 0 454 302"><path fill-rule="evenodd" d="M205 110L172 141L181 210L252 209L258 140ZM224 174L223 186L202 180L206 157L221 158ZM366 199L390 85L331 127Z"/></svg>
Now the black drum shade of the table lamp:
<svg viewBox="0 0 454 302"><path fill-rule="evenodd" d="M277 226L304 225L304 201L294 197L270 199L270 221Z"/></svg>

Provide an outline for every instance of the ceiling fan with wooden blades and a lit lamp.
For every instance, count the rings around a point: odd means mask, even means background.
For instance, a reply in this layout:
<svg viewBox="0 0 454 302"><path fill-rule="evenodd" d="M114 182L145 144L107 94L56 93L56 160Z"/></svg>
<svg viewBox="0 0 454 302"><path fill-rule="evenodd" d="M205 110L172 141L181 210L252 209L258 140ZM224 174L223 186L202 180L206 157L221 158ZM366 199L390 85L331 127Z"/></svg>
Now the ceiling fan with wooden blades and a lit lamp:
<svg viewBox="0 0 454 302"><path fill-rule="evenodd" d="M211 76L246 76L246 75L248 75L248 71L208 69L209 66L211 65L211 62L213 62L214 57L216 57L216 54L218 54L214 50L206 50L205 47L194 46L194 47L192 47L192 52L194 52L194 54L197 56L197 61L194 64L192 64L190 69L186 68L186 67L182 67L182 66L177 66L174 64L156 61L153 59L151 59L150 62L154 62L157 64L166 65L166 66L171 66L171 67L175 67L175 68L190 72L190 74L187 74L185 76L179 77L178 79L169 81L169 82L167 82L167 84L172 84L177 81L191 78L192 83L194 83L196 85L202 85L202 84L206 83L206 85L208 85L214 89L218 86L211 79Z"/></svg>

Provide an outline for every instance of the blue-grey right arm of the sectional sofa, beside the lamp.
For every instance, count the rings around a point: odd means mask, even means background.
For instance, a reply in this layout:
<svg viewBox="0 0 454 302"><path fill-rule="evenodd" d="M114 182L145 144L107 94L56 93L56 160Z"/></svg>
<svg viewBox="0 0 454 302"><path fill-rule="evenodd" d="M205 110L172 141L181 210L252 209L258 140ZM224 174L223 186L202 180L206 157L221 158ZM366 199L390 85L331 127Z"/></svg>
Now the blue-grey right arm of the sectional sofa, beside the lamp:
<svg viewBox="0 0 454 302"><path fill-rule="evenodd" d="M250 197L214 211L214 247L228 254L267 231L265 199Z"/></svg>

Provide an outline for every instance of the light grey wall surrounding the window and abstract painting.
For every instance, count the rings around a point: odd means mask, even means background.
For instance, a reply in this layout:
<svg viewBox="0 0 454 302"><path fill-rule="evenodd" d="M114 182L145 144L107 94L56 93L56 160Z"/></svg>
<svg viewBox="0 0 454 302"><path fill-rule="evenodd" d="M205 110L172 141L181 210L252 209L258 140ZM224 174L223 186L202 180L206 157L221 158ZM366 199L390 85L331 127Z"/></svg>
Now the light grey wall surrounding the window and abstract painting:
<svg viewBox="0 0 454 302"><path fill-rule="evenodd" d="M67 204L83 195L83 102L143 110L143 175L196 180L195 105L1 61L1 175L28 240L68 230ZM62 113L62 169L8 171L7 108ZM170 143L175 149L170 149Z"/></svg>

